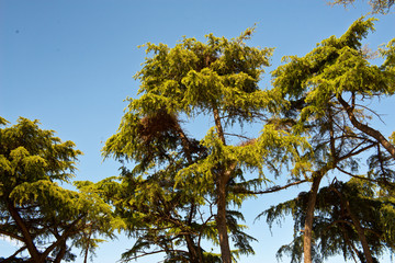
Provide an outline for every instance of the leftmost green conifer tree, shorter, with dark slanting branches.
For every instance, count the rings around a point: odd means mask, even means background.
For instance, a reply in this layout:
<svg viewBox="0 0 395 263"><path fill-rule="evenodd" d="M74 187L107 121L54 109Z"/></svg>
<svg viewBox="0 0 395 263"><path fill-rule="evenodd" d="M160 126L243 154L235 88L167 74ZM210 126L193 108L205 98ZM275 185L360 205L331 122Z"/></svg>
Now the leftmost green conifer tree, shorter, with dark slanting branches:
<svg viewBox="0 0 395 263"><path fill-rule="evenodd" d="M0 129L0 235L22 244L1 262L74 261L74 245L87 258L99 235L113 237L109 205L82 185L76 192L57 183L70 181L79 155L37 121L20 117ZM30 256L19 259L23 251Z"/></svg>

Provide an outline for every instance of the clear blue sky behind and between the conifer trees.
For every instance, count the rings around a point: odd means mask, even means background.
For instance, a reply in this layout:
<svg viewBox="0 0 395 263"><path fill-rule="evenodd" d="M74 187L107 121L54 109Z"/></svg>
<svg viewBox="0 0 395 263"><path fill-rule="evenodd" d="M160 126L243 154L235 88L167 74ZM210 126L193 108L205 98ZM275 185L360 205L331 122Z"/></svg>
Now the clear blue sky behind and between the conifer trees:
<svg viewBox="0 0 395 263"><path fill-rule="evenodd" d="M366 2L346 10L330 8L325 0L0 0L0 116L12 124L19 116L37 118L63 140L75 141L84 152L76 180L97 182L117 174L117 164L102 162L100 150L116 132L126 106L123 100L136 94L138 82L132 77L145 57L138 45L172 46L183 35L203 41L208 33L236 37L257 23L249 45L275 47L275 67L282 56L303 56L321 39L340 36L370 11ZM377 18L376 32L366 41L372 48L395 37L395 14ZM262 88L269 83L263 81ZM386 125L377 123L385 135L395 130L394 102L375 105L387 114ZM246 224L259 243L253 244L256 255L240 262L275 262L276 249L292 239L292 221L273 228L271 236L264 220L253 224L253 218L301 190L246 203ZM115 262L132 244L122 237L110 241L93 262ZM0 255L10 245L0 241Z"/></svg>

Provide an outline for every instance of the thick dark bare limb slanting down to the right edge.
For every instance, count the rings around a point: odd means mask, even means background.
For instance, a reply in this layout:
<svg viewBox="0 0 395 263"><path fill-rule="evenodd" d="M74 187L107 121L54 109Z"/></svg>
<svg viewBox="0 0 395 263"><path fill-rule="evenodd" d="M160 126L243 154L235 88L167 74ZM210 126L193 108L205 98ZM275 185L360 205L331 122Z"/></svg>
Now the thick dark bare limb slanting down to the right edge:
<svg viewBox="0 0 395 263"><path fill-rule="evenodd" d="M350 106L340 95L338 96L338 100L340 104L345 107L351 124L362 133L376 139L395 159L395 147L379 130L371 128L365 124L360 123L353 113L353 107Z"/></svg>

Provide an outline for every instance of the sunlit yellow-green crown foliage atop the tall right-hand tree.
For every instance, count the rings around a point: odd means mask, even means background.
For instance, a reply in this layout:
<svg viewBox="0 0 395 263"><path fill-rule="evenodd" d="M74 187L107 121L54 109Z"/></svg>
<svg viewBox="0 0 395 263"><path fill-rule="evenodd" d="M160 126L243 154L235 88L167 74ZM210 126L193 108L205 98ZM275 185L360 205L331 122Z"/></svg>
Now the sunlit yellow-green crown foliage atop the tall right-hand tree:
<svg viewBox="0 0 395 263"><path fill-rule="evenodd" d="M393 45L382 52L386 59L382 67L369 64L360 50L361 39L373 30L373 22L360 19L341 37L323 41L302 58L284 58L287 64L273 71L274 89L306 104L300 121L323 117L329 102L347 93L363 99L394 94Z"/></svg>

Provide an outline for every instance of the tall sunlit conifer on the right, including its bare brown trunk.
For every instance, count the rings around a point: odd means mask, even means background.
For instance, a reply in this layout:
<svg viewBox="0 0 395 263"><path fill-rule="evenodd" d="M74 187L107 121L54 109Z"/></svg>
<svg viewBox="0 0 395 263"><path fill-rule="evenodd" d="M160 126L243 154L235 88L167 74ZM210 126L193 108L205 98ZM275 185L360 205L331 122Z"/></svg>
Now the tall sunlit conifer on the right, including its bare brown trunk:
<svg viewBox="0 0 395 263"><path fill-rule="evenodd" d="M376 163L387 160L380 153L383 149L394 157L394 145L366 123L370 114L365 110L371 111L368 101L395 91L395 41L381 50L384 64L380 67L371 65L361 49L361 39L373 30L373 21L356 21L341 37L323 41L302 58L286 57L287 64L273 71L274 90L291 104L284 117L294 124L295 133L312 136L315 155L304 228L306 263L312 262L314 207L321 179L331 170L353 175L358 168L354 157L368 150L376 149ZM369 249L364 249L369 258Z"/></svg>

